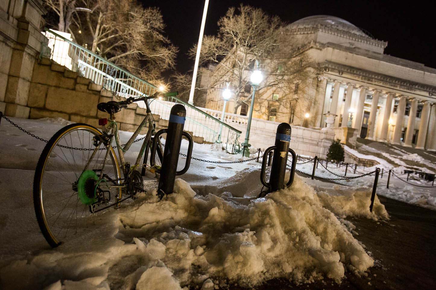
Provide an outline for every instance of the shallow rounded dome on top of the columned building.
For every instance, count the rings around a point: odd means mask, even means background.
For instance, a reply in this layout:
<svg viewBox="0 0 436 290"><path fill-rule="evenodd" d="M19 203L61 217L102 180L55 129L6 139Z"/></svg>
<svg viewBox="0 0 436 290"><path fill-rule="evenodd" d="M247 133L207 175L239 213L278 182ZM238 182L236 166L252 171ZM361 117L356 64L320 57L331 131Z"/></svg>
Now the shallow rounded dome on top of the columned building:
<svg viewBox="0 0 436 290"><path fill-rule="evenodd" d="M328 27L338 30L343 30L351 33L358 34L363 37L368 37L360 28L351 24L347 20L339 17L334 17L330 15L314 15L309 17L304 17L297 20L287 26L289 29L293 28L303 28L303 27ZM371 37L372 38L372 37Z"/></svg>

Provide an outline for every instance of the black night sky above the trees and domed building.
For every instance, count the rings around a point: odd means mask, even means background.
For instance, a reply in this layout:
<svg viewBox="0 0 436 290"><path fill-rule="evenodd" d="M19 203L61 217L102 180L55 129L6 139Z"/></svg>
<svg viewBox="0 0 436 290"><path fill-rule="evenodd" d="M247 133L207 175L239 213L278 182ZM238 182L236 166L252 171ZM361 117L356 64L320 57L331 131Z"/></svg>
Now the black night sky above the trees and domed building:
<svg viewBox="0 0 436 290"><path fill-rule="evenodd" d="M145 7L160 7L167 25L167 37L180 48L177 57L177 70L186 72L194 65L194 60L185 53L198 41L204 0L142 0ZM214 35L217 22L228 7L238 7L240 1L209 0L205 35ZM410 1L352 0L342 1L283 1L283 0L246 0L245 5L262 8L269 15L277 15L286 23L292 23L312 15L332 15L340 17L355 26L367 30L376 39L388 41L385 54L406 60L424 63L436 68L436 20L433 8ZM416 4L415 4L416 3Z"/></svg>

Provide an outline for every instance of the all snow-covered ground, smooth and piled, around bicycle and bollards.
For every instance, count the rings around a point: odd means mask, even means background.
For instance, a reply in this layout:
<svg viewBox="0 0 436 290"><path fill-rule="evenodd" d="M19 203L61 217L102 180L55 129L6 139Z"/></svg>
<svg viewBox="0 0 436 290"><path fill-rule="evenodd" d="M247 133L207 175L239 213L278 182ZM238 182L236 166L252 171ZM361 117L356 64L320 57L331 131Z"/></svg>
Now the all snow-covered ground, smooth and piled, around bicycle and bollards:
<svg viewBox="0 0 436 290"><path fill-rule="evenodd" d="M66 124L61 119L11 120L44 139ZM191 160L164 200L157 199L157 182L147 173L146 193L118 210L94 214L85 234L51 249L38 228L32 198L34 168L45 143L4 119L0 134L0 289L217 289L229 283L250 287L275 277L292 283L324 277L340 281L346 273L365 275L377 259L344 218L388 220L377 197L369 211L374 175L339 185L296 174L290 188L258 199L262 184L255 160ZM121 140L130 134L120 132ZM139 143L126 154L128 160ZM183 141L181 151L186 148ZM225 153L219 144L194 144L193 157L244 159ZM184 162L180 157L179 170ZM311 173L313 163L296 168ZM374 169L358 167L362 173ZM345 167L329 170L343 175ZM357 176L353 170L348 168L347 176ZM337 178L321 166L316 175ZM435 188L391 177L387 189L386 181L385 173L377 194L436 209Z"/></svg>

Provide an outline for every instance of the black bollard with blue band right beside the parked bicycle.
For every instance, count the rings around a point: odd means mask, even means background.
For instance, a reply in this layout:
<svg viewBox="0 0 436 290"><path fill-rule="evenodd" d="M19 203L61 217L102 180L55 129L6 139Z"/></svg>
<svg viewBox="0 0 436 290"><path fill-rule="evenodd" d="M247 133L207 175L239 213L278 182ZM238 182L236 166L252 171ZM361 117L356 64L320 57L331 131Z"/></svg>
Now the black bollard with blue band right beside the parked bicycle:
<svg viewBox="0 0 436 290"><path fill-rule="evenodd" d="M159 130L156 135L154 135L153 147L151 148L150 154L150 165L154 165L154 157L156 155L157 140L159 136L163 133L167 133L167 139L165 141L165 150L162 160L161 169L156 171L160 173L160 179L158 184L157 194L162 199L164 194L170 194L174 190L174 180L176 175L181 175L185 173L189 165L191 164L191 154L193 141L191 135L183 131L185 123L186 109L182 104L176 104L171 108L170 120L167 129ZM180 145L182 142L182 136L185 136L188 141L188 152L186 156L185 167L177 170L177 163L179 161Z"/></svg>

